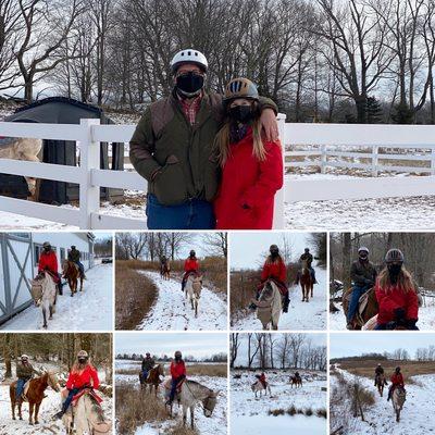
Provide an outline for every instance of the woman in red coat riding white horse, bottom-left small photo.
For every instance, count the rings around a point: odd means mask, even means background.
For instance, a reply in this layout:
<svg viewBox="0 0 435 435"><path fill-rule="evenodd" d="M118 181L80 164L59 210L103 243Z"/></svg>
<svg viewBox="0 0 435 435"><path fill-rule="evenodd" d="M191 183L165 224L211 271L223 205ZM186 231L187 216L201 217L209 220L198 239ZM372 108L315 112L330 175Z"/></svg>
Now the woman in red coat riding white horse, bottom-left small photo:
<svg viewBox="0 0 435 435"><path fill-rule="evenodd" d="M62 405L62 411L59 411L54 418L60 419L70 408L71 402L75 395L80 390L90 388L98 389L100 381L98 378L98 372L94 365L89 362L89 356L86 350L80 350L77 353L77 362L73 365L70 376L66 381L66 390L62 391L62 396L66 396L65 401Z"/></svg>

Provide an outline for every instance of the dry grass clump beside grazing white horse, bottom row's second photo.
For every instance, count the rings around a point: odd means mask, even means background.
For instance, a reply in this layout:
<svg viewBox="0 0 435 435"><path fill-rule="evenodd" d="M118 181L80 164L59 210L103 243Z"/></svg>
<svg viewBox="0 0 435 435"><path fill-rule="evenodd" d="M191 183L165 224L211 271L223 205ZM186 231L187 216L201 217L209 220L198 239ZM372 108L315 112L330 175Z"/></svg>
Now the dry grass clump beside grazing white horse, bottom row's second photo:
<svg viewBox="0 0 435 435"><path fill-rule="evenodd" d="M130 435L136 427L153 421L165 421L169 415L161 399L144 400L144 394L130 386L116 387L116 419L119 433Z"/></svg>

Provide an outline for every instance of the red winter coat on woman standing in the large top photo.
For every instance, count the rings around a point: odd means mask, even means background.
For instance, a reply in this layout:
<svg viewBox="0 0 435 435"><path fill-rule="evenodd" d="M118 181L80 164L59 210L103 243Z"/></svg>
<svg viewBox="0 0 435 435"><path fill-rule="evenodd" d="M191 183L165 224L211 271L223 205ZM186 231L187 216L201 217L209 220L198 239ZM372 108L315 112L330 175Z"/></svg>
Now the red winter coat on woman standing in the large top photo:
<svg viewBox="0 0 435 435"><path fill-rule="evenodd" d="M252 154L251 130L231 147L232 154L222 170L221 187L214 201L216 228L271 229L274 197L283 186L279 142L264 144L264 161Z"/></svg>

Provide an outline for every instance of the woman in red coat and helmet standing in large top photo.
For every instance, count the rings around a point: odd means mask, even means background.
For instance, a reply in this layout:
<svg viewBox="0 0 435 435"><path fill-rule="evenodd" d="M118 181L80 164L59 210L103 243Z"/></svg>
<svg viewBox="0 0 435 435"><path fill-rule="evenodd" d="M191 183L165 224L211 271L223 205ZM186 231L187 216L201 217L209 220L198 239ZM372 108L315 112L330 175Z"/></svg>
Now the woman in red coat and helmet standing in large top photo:
<svg viewBox="0 0 435 435"><path fill-rule="evenodd" d="M226 122L215 138L222 182L214 201L217 229L271 229L283 186L279 141L262 134L257 87L247 78L226 86Z"/></svg>

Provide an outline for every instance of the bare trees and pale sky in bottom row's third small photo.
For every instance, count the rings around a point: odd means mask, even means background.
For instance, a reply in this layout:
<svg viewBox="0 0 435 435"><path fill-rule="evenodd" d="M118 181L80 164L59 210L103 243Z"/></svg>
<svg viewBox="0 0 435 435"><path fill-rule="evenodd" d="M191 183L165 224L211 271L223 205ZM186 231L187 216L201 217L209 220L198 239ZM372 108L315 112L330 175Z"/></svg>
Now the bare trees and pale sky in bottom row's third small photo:
<svg viewBox="0 0 435 435"><path fill-rule="evenodd" d="M325 371L327 364L326 345L314 345L307 334L233 333L229 355L231 368Z"/></svg>

